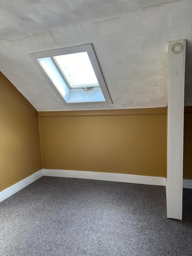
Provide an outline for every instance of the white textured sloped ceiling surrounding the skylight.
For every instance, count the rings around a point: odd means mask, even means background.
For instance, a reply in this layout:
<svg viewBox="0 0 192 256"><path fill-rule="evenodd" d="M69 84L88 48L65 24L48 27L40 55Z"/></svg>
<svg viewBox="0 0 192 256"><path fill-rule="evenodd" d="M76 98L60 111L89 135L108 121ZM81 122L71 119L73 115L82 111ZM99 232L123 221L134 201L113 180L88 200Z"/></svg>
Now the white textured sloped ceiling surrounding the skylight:
<svg viewBox="0 0 192 256"><path fill-rule="evenodd" d="M38 111L167 106L167 42L187 39L192 0L0 0L0 71ZM92 43L112 105L64 106L28 53Z"/></svg>

